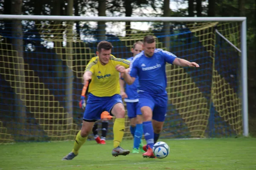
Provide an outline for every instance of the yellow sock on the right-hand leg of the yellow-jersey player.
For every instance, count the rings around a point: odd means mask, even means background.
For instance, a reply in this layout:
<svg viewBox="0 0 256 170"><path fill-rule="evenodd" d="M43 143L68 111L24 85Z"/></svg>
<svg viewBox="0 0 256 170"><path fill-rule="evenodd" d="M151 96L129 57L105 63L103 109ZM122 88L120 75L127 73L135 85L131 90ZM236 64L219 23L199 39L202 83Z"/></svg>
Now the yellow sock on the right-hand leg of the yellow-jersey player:
<svg viewBox="0 0 256 170"><path fill-rule="evenodd" d="M125 132L125 118L116 118L113 125L114 148L120 145Z"/></svg>

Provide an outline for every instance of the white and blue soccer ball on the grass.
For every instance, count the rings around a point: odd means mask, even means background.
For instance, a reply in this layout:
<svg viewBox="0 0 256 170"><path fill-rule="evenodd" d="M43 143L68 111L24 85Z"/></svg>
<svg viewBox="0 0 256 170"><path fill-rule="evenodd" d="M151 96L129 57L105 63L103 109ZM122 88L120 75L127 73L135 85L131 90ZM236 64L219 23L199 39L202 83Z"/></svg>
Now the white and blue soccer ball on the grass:
<svg viewBox="0 0 256 170"><path fill-rule="evenodd" d="M154 144L153 148L154 156L163 159L169 155L169 146L165 142L157 142Z"/></svg>

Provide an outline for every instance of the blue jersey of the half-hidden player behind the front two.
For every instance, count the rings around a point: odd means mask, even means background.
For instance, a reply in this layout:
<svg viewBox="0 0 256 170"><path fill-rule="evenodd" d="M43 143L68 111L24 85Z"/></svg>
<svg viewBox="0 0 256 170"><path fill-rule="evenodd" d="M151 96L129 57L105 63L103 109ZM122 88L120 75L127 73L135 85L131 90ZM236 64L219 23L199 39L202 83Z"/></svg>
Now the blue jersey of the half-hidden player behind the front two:
<svg viewBox="0 0 256 170"><path fill-rule="evenodd" d="M130 57L127 60L132 61L134 57ZM139 87L139 79L136 79L132 85L126 84L125 93L127 94L128 98L125 98L125 102L138 102L138 92L137 89Z"/></svg>

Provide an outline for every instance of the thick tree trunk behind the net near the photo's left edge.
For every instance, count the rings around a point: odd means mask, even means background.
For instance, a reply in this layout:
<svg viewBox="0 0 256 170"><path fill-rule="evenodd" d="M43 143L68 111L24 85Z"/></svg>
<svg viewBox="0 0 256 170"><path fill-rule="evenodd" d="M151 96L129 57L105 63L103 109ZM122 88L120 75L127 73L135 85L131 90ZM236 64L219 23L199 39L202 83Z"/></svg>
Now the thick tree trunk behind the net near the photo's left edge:
<svg viewBox="0 0 256 170"><path fill-rule="evenodd" d="M22 0L12 0L12 14L21 15ZM20 20L12 21L12 46L15 65L15 106L20 132L26 129L26 80L23 59L23 32Z"/></svg>

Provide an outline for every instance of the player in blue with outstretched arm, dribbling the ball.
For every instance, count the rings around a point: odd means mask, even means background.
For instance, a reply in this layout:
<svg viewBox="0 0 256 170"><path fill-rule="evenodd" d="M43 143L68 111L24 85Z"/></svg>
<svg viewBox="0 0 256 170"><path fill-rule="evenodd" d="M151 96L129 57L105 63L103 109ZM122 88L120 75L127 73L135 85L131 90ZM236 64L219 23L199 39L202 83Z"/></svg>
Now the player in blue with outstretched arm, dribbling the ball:
<svg viewBox="0 0 256 170"><path fill-rule="evenodd" d="M143 115L143 132L147 142L144 158L154 158L152 147L159 138L167 112L166 62L181 67L199 67L195 62L156 49L156 42L151 35L144 37L143 51L134 57L128 69L121 65L116 66L116 70L123 73L125 82L129 85L137 76L139 77L139 106Z"/></svg>

